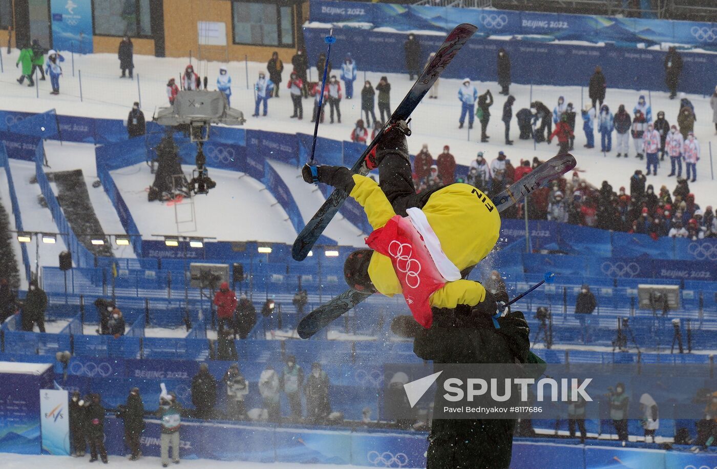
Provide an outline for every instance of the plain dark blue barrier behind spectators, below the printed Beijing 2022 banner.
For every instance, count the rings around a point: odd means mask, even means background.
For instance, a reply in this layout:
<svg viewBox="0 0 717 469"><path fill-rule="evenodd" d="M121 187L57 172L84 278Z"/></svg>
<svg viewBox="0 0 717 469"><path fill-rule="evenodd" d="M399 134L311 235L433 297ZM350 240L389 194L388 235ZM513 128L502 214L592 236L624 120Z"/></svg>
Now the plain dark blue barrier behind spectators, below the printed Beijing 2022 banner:
<svg viewBox="0 0 717 469"><path fill-rule="evenodd" d="M669 22L665 22L669 23ZM326 44L323 38L328 29L305 28L304 38L310 57L317 57ZM359 70L369 72L407 73L403 56L405 34L376 32L366 29L335 30L336 55L344 57L347 52L356 60ZM417 34L421 44L421 64L430 52L435 52L444 37L433 34ZM366 47L376 44L380 47ZM511 80L521 85L585 86L596 65L602 67L608 87L627 90L668 91L663 67L667 52L652 49L624 49L606 44L604 47L574 44L549 44L531 41L504 41L474 37L463 47L458 60L451 62L441 75L446 78L465 78L483 82L498 80L498 49L503 47L511 57ZM399 51L399 52L397 52ZM713 85L702 80L717 71L717 55L683 53L683 72L680 75L680 91L711 95ZM560 73L556 73L560 70ZM458 100L455 101L459 106ZM460 109L460 107L459 107Z"/></svg>

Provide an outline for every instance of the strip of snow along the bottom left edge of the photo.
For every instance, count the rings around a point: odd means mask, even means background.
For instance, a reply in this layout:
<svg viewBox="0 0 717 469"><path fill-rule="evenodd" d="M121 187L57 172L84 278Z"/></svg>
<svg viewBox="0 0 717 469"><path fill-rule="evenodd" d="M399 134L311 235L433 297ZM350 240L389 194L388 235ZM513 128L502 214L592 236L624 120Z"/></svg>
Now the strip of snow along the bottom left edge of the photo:
<svg viewBox="0 0 717 469"><path fill-rule="evenodd" d="M143 456L142 458L129 462L129 460L123 456L111 456L108 458L111 463L124 463L132 468L143 469L151 468L156 469L161 467L160 458L152 458L150 456ZM27 469L27 468L39 468L47 465L52 465L53 469L75 469L80 463L87 463L89 458L84 460L77 458L70 458L69 456L49 456L49 455L16 455L14 453L0 453L0 467L5 469ZM173 465L174 467L174 465ZM183 459L181 464L177 467L190 468L190 469L310 469L315 467L309 464L299 463L250 463L248 461L218 461L218 460L206 460L206 459ZM320 464L321 469L348 469L357 468L359 466L354 465L333 465L333 464Z"/></svg>

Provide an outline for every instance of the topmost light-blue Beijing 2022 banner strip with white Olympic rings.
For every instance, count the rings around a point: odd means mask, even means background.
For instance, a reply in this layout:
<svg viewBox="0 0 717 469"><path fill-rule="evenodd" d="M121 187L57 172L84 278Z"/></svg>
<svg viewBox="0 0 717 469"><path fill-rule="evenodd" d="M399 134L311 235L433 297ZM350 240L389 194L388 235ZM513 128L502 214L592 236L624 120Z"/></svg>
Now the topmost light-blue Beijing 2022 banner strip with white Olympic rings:
<svg viewBox="0 0 717 469"><path fill-rule="evenodd" d="M708 22L331 0L311 0L309 18L320 23L370 23L374 28L390 27L399 31L449 32L457 24L471 23L477 25L478 33L483 35L539 34L589 42L717 45L717 24Z"/></svg>

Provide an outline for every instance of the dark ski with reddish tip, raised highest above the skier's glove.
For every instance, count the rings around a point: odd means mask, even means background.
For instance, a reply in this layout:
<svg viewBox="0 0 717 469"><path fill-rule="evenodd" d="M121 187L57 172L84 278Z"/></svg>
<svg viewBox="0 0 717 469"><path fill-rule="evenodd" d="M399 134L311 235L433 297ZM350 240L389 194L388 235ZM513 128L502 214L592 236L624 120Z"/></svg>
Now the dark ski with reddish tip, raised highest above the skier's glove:
<svg viewBox="0 0 717 469"><path fill-rule="evenodd" d="M443 44L441 44L433 60L431 60L425 70L423 70L423 73L418 77L418 80L416 80L411 90L409 90L406 97L402 100L401 104L399 104L399 107L391 114L391 118L384 124L381 131L376 134L374 140L369 143L364 153L361 153L361 157L351 166L351 171L364 176L369 174L369 169L366 167L366 156L374 149L381 139L381 136L383 136L384 131L400 120L408 120L409 115L411 115L413 110L419 105L424 95L428 93L428 90L430 90L435 81L438 80L438 77L440 77L451 60L453 60L453 57L460 51L460 48L463 47L468 39L473 37L476 29L478 28L473 24L463 23L459 24L448 34L448 37L446 37ZM318 209L318 212L314 214L296 237L291 249L291 257L293 257L294 260L301 261L306 258L314 243L318 240L318 237L320 237L323 230L326 229L347 197L348 194L346 194L346 191L339 189L334 190L331 195L328 196L326 202L323 203L320 209Z"/></svg>

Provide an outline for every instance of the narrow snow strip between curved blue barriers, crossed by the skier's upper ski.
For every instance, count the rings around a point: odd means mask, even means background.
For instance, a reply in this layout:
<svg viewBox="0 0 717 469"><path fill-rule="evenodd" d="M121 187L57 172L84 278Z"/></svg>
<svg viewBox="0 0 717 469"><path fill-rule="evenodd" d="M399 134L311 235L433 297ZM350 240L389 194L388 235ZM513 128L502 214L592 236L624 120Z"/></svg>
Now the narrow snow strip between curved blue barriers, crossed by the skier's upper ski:
<svg viewBox="0 0 717 469"><path fill-rule="evenodd" d="M271 160L270 164L289 187L291 194L299 206L301 217L303 217L305 221L311 219L323 202L326 202L326 198L321 194L321 191L313 184L306 184L304 180L301 179L295 166ZM356 228L353 223L343 218L341 214L338 214L336 218L331 221L331 224L326 227L326 231L323 232L323 234L332 240L336 240L336 242L342 246L366 246L364 233Z"/></svg>

